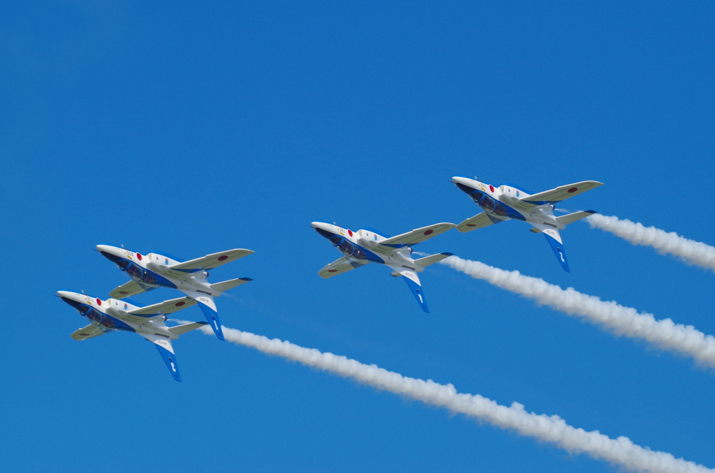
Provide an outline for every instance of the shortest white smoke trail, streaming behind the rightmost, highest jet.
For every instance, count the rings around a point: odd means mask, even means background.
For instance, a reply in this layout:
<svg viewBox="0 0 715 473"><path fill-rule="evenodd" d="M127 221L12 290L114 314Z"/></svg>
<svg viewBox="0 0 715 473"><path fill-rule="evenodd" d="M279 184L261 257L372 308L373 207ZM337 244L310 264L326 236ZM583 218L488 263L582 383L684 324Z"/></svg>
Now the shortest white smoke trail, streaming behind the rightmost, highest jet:
<svg viewBox="0 0 715 473"><path fill-rule="evenodd" d="M586 218L591 228L610 231L616 237L628 240L632 244L654 247L660 254L674 254L689 264L696 264L715 271L715 247L696 242L655 226L644 226L630 220L621 220L617 216L593 214Z"/></svg>

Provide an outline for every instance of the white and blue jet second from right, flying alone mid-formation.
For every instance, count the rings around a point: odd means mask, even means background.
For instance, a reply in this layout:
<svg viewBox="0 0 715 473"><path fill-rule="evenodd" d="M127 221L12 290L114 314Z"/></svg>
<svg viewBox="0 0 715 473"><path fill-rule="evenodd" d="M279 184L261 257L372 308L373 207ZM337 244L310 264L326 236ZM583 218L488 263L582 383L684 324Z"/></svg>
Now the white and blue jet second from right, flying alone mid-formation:
<svg viewBox="0 0 715 473"><path fill-rule="evenodd" d="M455 224L442 223L425 226L397 237L386 237L380 234L379 231L367 227L352 231L324 221L314 221L311 225L315 231L322 237L329 239L332 246L345 255L321 269L318 272L320 277L327 279L337 276L337 274L348 272L350 269L365 266L365 264L385 264L385 266L393 270L390 276L402 276L405 278L405 282L407 282L408 287L415 295L420 307L422 307L423 311L430 312L427 308L427 301L425 301L425 294L423 294L422 284L420 284L420 278L417 273L423 272L430 264L435 264L452 256L452 254L439 253L425 258L413 259L412 247L453 229Z"/></svg>

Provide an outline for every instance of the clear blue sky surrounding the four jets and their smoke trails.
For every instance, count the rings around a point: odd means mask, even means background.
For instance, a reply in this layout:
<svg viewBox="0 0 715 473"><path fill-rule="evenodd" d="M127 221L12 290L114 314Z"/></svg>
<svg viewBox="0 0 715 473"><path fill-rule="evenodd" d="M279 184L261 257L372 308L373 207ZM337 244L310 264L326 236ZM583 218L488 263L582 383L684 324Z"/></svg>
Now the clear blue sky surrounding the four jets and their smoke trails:
<svg viewBox="0 0 715 473"><path fill-rule="evenodd" d="M715 244L709 2L26 1L0 6L0 467L22 472L607 472L199 333L184 382L132 334L75 342L51 297L125 282L90 249L256 253L212 272L227 327L452 383L715 467L715 374L448 267L431 314L308 227L399 234L477 207L455 175ZM715 274L583 223L571 274L510 222L420 245L715 333ZM178 297L159 289L144 303ZM182 317L201 320L196 307Z"/></svg>

